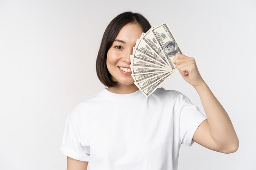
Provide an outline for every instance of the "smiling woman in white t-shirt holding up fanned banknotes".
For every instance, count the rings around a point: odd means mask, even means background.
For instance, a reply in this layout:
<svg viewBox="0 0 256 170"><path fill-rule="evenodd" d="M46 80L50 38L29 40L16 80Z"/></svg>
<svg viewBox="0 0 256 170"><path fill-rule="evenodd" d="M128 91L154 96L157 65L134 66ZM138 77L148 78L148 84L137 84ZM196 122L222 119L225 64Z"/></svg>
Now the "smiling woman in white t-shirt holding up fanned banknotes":
<svg viewBox="0 0 256 170"><path fill-rule="evenodd" d="M181 144L195 141L222 153L238 149L229 116L193 57L176 53L173 63L198 92L207 117L180 92L158 88L145 97L133 84L132 47L150 28L143 15L132 12L107 26L96 68L108 88L77 104L66 119L60 150L68 170L177 170Z"/></svg>

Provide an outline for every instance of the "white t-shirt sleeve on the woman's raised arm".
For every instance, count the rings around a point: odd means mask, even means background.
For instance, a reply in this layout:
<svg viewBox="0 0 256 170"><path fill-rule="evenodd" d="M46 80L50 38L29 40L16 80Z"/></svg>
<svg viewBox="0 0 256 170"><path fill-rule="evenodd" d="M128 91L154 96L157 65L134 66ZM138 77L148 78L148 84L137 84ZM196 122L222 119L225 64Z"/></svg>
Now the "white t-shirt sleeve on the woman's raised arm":
<svg viewBox="0 0 256 170"><path fill-rule="evenodd" d="M193 105L189 99L184 103L180 113L180 140L181 144L191 146L193 136L198 126L207 119L199 108Z"/></svg>

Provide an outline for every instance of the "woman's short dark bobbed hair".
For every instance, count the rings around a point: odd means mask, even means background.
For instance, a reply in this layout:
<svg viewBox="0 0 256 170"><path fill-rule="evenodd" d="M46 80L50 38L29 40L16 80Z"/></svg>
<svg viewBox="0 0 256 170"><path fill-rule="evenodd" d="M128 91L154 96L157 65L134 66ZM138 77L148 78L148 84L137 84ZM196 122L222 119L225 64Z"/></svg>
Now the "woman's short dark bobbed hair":
<svg viewBox="0 0 256 170"><path fill-rule="evenodd" d="M151 28L150 23L142 14L132 13L130 11L120 13L108 24L103 34L96 59L97 76L101 83L107 87L114 87L115 85L117 85L117 82L112 80L107 68L107 53L122 26L128 23L139 24L144 33L146 33Z"/></svg>

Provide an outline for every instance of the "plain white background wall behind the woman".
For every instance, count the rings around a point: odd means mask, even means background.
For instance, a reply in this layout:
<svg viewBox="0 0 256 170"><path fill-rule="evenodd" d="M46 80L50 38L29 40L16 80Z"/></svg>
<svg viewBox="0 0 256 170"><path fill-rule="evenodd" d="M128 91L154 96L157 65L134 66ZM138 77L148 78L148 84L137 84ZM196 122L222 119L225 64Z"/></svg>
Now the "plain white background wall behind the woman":
<svg viewBox="0 0 256 170"><path fill-rule="evenodd" d="M256 2L0 0L0 170L63 170L59 151L71 109L104 86L95 61L108 23L124 11L167 22L184 55L194 57L240 140L223 154L194 143L179 170L255 170ZM179 72L162 87L188 96Z"/></svg>

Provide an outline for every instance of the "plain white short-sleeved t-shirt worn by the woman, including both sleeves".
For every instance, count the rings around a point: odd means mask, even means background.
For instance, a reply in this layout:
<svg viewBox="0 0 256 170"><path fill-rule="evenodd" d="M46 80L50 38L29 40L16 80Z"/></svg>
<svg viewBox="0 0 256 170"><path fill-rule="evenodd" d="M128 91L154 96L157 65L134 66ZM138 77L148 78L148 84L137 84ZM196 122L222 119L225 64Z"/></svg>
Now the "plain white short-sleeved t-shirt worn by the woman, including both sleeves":
<svg viewBox="0 0 256 170"><path fill-rule="evenodd" d="M59 150L88 161L87 170L177 170L181 144L193 144L205 119L178 91L145 97L103 88L73 108Z"/></svg>

